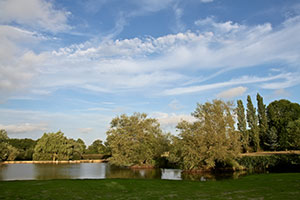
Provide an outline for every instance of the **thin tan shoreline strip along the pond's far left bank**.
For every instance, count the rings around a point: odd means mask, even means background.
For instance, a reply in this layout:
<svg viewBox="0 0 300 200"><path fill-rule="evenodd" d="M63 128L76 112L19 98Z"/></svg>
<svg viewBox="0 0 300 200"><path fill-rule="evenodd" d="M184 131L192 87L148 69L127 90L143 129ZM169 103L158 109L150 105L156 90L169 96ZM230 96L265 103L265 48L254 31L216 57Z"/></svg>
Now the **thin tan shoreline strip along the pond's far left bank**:
<svg viewBox="0 0 300 200"><path fill-rule="evenodd" d="M104 163L106 159L100 160L22 160L22 161L4 161L1 164L76 164L76 163Z"/></svg>

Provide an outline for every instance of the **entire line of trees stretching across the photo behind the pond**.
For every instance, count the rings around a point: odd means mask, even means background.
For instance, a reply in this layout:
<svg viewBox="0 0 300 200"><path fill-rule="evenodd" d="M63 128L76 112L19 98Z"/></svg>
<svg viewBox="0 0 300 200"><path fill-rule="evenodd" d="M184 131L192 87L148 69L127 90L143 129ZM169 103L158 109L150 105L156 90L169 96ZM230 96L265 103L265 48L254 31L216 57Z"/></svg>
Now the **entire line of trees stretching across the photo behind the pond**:
<svg viewBox="0 0 300 200"><path fill-rule="evenodd" d="M282 99L266 106L259 94L256 100L257 108L248 96L246 109L242 100L237 107L222 100L198 103L191 114L196 120L179 122L178 135L163 132L158 120L145 113L123 114L112 119L104 144L96 140L88 148L60 131L34 141L9 139L2 130L1 160L76 160L94 153L109 155L109 162L119 166L168 163L197 170L239 168L243 152L300 149L300 105Z"/></svg>

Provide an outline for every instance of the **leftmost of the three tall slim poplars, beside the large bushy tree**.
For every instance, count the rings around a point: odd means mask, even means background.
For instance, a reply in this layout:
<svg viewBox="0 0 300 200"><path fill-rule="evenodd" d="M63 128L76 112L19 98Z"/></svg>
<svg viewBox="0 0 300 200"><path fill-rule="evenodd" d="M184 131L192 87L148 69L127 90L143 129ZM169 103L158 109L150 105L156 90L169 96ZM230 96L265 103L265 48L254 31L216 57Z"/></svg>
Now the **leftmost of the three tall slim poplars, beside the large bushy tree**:
<svg viewBox="0 0 300 200"><path fill-rule="evenodd" d="M245 109L242 100L237 101L237 127L241 132L241 141L244 152L249 151L249 132L247 131L246 117L245 117Z"/></svg>

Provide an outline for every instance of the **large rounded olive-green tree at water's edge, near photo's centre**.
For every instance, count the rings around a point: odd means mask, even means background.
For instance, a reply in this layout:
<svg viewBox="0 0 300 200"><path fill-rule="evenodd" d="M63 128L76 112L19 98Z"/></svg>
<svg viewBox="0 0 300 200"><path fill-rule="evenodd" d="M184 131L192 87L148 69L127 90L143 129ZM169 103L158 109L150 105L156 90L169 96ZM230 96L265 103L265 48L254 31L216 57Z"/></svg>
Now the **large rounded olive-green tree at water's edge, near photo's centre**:
<svg viewBox="0 0 300 200"><path fill-rule="evenodd" d="M156 119L144 113L125 114L111 121L107 131L110 162L119 166L154 166L166 151L167 138Z"/></svg>

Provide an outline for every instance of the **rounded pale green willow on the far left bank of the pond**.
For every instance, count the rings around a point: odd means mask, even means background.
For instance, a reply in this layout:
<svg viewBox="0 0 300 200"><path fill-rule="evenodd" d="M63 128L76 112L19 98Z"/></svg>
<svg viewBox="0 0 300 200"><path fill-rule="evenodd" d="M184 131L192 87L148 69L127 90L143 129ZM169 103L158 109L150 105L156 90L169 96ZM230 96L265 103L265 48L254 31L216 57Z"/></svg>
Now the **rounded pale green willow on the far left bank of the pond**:
<svg viewBox="0 0 300 200"><path fill-rule="evenodd" d="M70 160L74 153L74 143L68 140L61 131L44 133L35 148L34 160Z"/></svg>

